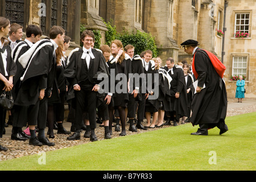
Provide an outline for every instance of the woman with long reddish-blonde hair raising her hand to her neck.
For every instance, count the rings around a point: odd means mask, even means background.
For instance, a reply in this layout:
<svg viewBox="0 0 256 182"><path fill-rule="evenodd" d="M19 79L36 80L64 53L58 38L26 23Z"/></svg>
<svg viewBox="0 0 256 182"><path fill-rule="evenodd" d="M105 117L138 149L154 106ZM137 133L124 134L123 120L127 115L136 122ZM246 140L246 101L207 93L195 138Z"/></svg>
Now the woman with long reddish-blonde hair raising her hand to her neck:
<svg viewBox="0 0 256 182"><path fill-rule="evenodd" d="M115 85L115 97L114 105L118 109L122 131L120 136L126 135L125 125L126 125L126 113L125 108L129 101L129 73L131 73L131 58L130 56L125 57L125 52L122 55L118 54L120 49L123 49L123 44L120 40L113 40L110 46L112 50L112 55L118 57L117 59L117 69L120 81Z"/></svg>

